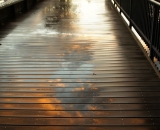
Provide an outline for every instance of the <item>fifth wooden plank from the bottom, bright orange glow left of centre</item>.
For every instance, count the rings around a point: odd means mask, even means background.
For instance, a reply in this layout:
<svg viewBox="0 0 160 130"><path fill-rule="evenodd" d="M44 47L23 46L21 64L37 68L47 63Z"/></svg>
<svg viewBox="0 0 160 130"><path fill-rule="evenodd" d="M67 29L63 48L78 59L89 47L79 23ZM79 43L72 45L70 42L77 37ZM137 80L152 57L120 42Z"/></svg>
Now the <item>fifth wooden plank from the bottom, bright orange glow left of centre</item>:
<svg viewBox="0 0 160 130"><path fill-rule="evenodd" d="M13 93L14 94L14 93ZM42 96L43 97L43 96ZM158 96L157 96L158 97ZM58 100L57 100L58 98ZM1 101L0 103L9 103L9 104L29 104L29 103L35 103L35 104L154 104L160 103L160 99L154 100L154 97L43 97L43 99L40 99L40 97L0 97ZM158 97L159 98L159 97Z"/></svg>

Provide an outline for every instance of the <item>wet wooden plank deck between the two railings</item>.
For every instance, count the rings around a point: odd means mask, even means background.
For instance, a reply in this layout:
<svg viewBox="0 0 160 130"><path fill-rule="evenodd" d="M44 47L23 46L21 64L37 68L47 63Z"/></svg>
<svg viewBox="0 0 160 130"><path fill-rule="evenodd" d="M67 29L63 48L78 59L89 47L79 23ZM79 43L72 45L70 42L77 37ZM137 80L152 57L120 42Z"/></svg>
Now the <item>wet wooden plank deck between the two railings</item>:
<svg viewBox="0 0 160 130"><path fill-rule="evenodd" d="M110 0L59 4L0 29L0 130L159 130L160 79Z"/></svg>

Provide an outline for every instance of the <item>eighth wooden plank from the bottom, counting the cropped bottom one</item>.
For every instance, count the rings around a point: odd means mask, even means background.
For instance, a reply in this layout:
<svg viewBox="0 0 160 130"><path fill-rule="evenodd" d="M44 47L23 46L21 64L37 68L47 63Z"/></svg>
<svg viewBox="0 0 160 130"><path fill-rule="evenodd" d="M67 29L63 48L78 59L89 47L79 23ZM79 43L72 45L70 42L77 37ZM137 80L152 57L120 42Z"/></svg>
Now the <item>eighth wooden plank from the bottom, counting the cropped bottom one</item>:
<svg viewBox="0 0 160 130"><path fill-rule="evenodd" d="M105 87L154 87L157 88L157 84L160 84L160 82L149 82L149 81L140 81L140 82L110 82L110 83L0 83L1 87L6 88L6 87L18 87L18 88L23 88L23 87L28 87L28 88L34 88L34 87L39 87L45 89L46 87L52 87L52 88L66 88L66 87L71 87L71 88L76 88L80 87L83 88L85 87L86 89L92 88L92 89L99 89L99 88L105 88Z"/></svg>

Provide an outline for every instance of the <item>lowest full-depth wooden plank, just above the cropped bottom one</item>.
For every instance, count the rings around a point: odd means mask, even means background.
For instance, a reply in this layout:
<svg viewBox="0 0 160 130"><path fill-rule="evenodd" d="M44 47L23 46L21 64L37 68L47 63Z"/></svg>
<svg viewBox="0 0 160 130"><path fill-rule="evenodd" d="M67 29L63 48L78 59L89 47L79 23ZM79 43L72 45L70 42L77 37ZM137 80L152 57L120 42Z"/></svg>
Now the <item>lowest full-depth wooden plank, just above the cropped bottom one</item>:
<svg viewBox="0 0 160 130"><path fill-rule="evenodd" d="M22 121L23 119L23 121ZM7 122L8 120L8 122ZM157 123L158 120L155 120ZM20 124L18 123L20 122ZM147 122L147 123L146 123ZM0 119L1 125L20 125L20 126L144 126L153 125L151 118L14 118L3 117Z"/></svg>

